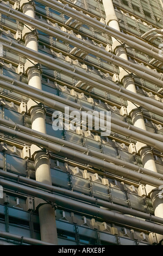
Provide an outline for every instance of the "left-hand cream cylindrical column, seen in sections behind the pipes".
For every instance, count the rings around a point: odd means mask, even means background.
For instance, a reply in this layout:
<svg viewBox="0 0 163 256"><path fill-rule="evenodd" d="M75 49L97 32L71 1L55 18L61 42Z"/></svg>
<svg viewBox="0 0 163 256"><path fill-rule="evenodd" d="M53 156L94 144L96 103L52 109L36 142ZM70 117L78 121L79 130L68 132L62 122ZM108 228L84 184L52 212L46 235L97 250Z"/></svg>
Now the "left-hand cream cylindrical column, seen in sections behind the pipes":
<svg viewBox="0 0 163 256"><path fill-rule="evenodd" d="M24 14L35 18L35 8L32 1L21 0L20 7ZM37 34L35 29L25 25L22 34L24 36L26 46L34 51L38 51ZM24 68L27 71L28 84L38 89L42 89L39 63L33 63L32 60L27 60ZM27 105L30 110L32 129L46 133L45 109L41 103L29 100ZM35 145L32 145L31 151L34 156L36 180L52 185L49 157L46 154L46 151L36 147ZM58 238L54 208L52 208L51 204L48 204L43 200L40 201L39 199L36 199L36 203L39 208L41 240L57 245Z"/></svg>

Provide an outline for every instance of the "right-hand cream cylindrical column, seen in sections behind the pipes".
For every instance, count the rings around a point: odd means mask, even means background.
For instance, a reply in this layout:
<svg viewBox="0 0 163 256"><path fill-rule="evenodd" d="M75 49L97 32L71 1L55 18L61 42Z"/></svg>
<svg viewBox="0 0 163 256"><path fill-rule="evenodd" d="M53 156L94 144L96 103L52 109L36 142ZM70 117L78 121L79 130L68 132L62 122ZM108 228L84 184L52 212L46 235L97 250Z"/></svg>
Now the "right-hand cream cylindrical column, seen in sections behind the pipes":
<svg viewBox="0 0 163 256"><path fill-rule="evenodd" d="M106 24L112 28L117 29L117 31L120 31L120 27L118 25L118 19L116 17L112 0L103 0L103 6L106 14L106 20L105 20ZM113 42L112 49L115 51L116 55L123 59L128 60L127 53L124 46L121 45L120 42L116 40L116 38L112 38L112 42ZM133 78L121 67L120 67L120 80L123 82L123 85L126 89L136 93L135 83ZM128 110L128 113L130 113L130 117L133 121L133 125L141 128L142 130L146 130L146 125L143 119L140 106L135 106L132 102L128 101L127 110ZM137 142L136 149L140 153L143 167L149 170L152 170L153 172L157 172L151 148L149 148L146 144ZM154 187L149 186L148 184L146 185L146 188L147 188L147 192L151 195L155 216L162 218L163 204L161 199L158 197L158 191L154 190ZM157 237L158 237L158 241L162 239L161 235L157 234Z"/></svg>

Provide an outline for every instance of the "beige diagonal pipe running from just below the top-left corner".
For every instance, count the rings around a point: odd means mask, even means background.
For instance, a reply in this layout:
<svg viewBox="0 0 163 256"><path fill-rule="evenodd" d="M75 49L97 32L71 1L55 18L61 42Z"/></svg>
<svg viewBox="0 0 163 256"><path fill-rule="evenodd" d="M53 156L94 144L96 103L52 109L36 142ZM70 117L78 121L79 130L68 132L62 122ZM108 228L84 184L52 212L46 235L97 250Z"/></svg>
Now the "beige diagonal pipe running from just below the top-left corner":
<svg viewBox="0 0 163 256"><path fill-rule="evenodd" d="M2 10L2 12L6 15L8 14L8 12L5 10ZM14 10L14 12L16 12L16 11ZM122 68L127 69L127 70L133 72L134 74L140 75L141 78L144 78L145 80L147 79L148 81L151 82L151 79L153 77L161 79L161 74L159 74L158 72L148 69L148 68L146 68L146 66L128 62L128 60L122 59L121 57L118 57L115 54L107 52L107 51L103 50L103 48L101 48L101 47L90 44L89 41L79 39L76 36L74 36L73 34L71 35L64 31L61 31L60 29L58 29L57 26L51 26L51 25L49 25L49 23L41 22L39 20L35 20L32 18L29 20L27 15L24 15L20 12L17 12L17 15L16 14L14 15L12 13L12 14L10 14L10 16L14 17L15 19L17 19L19 21L26 22L28 25L34 26L35 28L37 28L45 33L48 32L49 35L57 37L58 39L63 40L71 45L74 45L86 52L92 53L99 58L103 58L104 60L110 61L118 66L121 66ZM48 29L48 31L47 31L47 29ZM139 72L137 70L139 70ZM152 77L149 78L148 75L151 75Z"/></svg>

